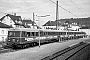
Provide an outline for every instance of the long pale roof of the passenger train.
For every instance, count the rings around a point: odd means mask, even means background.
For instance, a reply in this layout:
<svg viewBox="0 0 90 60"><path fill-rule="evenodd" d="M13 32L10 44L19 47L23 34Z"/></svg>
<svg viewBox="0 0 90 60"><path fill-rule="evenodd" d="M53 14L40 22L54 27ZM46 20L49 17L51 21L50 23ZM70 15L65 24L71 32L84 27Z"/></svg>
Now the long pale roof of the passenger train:
<svg viewBox="0 0 90 60"><path fill-rule="evenodd" d="M26 32L81 32L81 31L67 31L67 30L48 30L48 29L30 29L30 28L11 28L9 31L26 31Z"/></svg>

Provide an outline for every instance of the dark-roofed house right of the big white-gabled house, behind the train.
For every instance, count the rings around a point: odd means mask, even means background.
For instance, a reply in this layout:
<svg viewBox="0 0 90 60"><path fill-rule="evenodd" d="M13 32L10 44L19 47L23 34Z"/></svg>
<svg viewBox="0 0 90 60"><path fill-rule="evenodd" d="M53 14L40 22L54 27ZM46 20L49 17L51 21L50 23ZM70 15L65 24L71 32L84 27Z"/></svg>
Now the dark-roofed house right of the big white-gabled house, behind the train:
<svg viewBox="0 0 90 60"><path fill-rule="evenodd" d="M35 22L33 22L30 19L23 19L22 23L27 27L27 28L34 28L38 29L38 26L36 25Z"/></svg>

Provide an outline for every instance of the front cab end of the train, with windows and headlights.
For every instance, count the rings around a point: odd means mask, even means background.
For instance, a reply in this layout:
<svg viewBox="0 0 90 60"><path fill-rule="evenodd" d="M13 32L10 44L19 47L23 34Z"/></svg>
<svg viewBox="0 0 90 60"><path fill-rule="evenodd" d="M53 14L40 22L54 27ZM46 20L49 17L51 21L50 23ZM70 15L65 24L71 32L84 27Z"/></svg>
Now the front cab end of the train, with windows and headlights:
<svg viewBox="0 0 90 60"><path fill-rule="evenodd" d="M19 44L25 42L25 32L22 31L8 31L7 45L10 47L16 47Z"/></svg>

